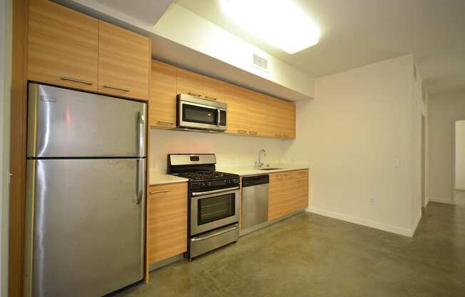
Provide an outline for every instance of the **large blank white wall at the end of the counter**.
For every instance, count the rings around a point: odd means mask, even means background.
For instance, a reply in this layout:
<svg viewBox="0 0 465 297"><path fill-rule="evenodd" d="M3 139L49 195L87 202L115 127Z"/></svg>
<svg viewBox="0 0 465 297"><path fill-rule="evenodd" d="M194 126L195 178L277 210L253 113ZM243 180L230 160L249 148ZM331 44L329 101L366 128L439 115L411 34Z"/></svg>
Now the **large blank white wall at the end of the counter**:
<svg viewBox="0 0 465 297"><path fill-rule="evenodd" d="M310 166L310 211L412 235L412 65L407 55L319 78L297 105L283 161Z"/></svg>

